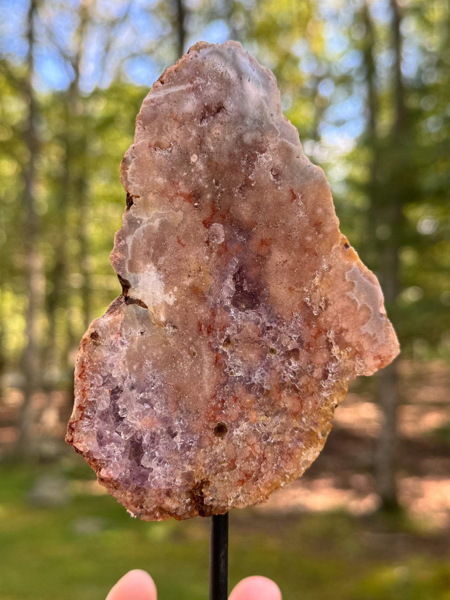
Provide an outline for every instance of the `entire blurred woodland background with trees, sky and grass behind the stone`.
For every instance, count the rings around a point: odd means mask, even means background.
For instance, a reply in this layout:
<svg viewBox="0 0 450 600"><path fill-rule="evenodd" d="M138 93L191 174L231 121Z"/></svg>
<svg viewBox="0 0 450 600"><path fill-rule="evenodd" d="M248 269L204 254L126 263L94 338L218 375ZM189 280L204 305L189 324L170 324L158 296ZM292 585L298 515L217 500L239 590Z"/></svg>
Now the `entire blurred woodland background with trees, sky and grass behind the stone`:
<svg viewBox="0 0 450 600"><path fill-rule="evenodd" d="M352 385L304 478L233 512L232 581L269 575L286 600L448 600L449 0L0 0L0 14L0 600L97 600L134 567L162 598L207 597L206 521L131 521L63 437L79 340L121 290L109 252L134 118L191 44L227 39L277 76L402 348Z"/></svg>

